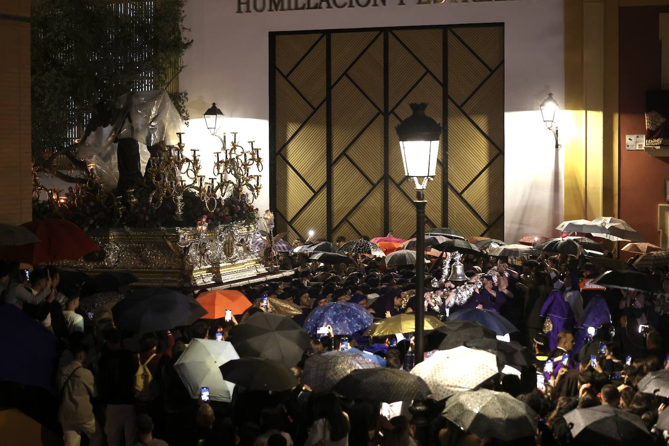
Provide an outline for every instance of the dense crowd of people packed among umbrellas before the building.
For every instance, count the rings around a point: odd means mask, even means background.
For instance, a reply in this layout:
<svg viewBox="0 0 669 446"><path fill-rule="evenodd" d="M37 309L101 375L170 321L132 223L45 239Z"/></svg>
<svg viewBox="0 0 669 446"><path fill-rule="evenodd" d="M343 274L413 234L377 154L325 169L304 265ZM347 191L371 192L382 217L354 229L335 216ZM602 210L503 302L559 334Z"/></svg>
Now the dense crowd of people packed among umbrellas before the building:
<svg viewBox="0 0 669 446"><path fill-rule="evenodd" d="M662 289L644 292L592 284L605 268L580 253L513 259L465 255L464 282L474 292L463 302L456 296L463 284L442 277L444 255L427 257L431 263L425 277L415 277L413 265L387 266L381 257L350 256L350 262L327 265L312 261L308 251L282 253L278 263L294 275L240 288L255 304L244 314L144 334L120 330L110 313L93 319L82 312L80 286L63 286L55 267L35 268L27 276L16 264L0 263L2 301L50 330L59 352L52 388L1 382L1 405L17 407L62 435L66 445L581 445L590 443L573 438L565 416L598 405L633 414L653 432L656 444L667 444L669 433L654 428L666 399L637 387L647 374L669 368L666 267L646 271ZM332 392L315 393L301 382L310 356L341 348L373 352L386 368L411 369L413 360L407 358L413 356L415 340L369 338L365 330L312 336L311 348L292 364L298 385L291 391L237 386L229 403L205 402L193 399L175 372L175 362L191 340L233 340L237 321L272 312L273 301L300 308L301 314L292 316L300 326L314 309L331 302L357 304L382 320L415 312L419 280L427 291L426 314L448 321L459 310L480 308L517 328L508 339L526 347L533 361L498 364L500 370L516 366L517 373L500 372L480 388L508 393L531 407L539 426L535 436L506 442L481 437L441 416L443 400L427 399L427 423L415 423L406 406L397 410ZM258 305L265 299L267 306ZM440 332L426 332L425 357L443 339Z"/></svg>

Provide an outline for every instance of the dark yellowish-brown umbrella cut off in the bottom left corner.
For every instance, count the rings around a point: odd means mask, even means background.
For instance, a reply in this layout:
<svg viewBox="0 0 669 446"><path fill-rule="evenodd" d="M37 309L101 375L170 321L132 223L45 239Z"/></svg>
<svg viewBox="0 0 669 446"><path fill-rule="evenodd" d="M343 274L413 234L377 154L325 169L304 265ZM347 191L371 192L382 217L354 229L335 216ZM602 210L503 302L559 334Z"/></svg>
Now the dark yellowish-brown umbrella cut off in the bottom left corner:
<svg viewBox="0 0 669 446"><path fill-rule="evenodd" d="M0 443L12 446L62 445L63 440L17 409L0 411Z"/></svg>

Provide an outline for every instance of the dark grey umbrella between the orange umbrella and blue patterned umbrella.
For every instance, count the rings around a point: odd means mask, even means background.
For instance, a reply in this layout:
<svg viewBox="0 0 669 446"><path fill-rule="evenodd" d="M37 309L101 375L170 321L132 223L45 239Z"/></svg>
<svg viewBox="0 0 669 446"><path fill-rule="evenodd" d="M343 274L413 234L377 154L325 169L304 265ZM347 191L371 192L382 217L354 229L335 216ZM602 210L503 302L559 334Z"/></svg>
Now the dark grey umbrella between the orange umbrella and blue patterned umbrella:
<svg viewBox="0 0 669 446"><path fill-rule="evenodd" d="M309 335L294 320L270 313L256 313L232 329L231 342L240 356L268 358L289 367L311 348Z"/></svg>

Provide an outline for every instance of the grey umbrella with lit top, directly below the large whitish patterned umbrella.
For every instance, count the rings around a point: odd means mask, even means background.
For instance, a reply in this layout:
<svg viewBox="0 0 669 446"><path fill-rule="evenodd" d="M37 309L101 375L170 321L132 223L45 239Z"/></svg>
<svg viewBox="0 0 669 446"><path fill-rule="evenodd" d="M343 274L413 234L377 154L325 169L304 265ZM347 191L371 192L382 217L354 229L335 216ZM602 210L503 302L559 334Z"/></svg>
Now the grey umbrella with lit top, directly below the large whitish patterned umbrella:
<svg viewBox="0 0 669 446"><path fill-rule="evenodd" d="M478 437L502 441L534 438L539 419L527 404L508 393L484 388L457 393L448 399L442 417Z"/></svg>

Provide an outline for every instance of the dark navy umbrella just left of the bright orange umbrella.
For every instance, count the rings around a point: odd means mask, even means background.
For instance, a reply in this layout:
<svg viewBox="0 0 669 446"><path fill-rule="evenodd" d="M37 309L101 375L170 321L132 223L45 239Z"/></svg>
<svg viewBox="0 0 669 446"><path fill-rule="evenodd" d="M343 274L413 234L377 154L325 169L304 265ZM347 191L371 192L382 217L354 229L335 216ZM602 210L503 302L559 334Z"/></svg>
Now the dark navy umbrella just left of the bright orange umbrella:
<svg viewBox="0 0 669 446"><path fill-rule="evenodd" d="M191 315L188 296L167 288L138 290L112 308L118 328L134 333L170 330Z"/></svg>

